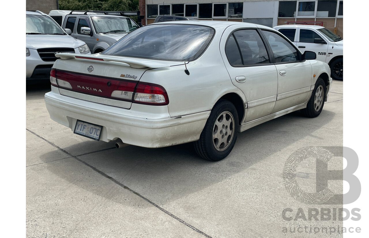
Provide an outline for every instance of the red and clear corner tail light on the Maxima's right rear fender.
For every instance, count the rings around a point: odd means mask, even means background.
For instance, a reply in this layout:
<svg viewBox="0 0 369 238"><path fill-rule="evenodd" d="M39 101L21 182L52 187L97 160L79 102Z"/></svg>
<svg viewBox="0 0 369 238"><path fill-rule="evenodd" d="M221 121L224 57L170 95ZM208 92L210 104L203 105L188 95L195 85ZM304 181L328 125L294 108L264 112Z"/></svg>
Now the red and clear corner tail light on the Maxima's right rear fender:
<svg viewBox="0 0 369 238"><path fill-rule="evenodd" d="M168 105L169 99L162 86L152 83L138 83L133 102L149 105Z"/></svg>

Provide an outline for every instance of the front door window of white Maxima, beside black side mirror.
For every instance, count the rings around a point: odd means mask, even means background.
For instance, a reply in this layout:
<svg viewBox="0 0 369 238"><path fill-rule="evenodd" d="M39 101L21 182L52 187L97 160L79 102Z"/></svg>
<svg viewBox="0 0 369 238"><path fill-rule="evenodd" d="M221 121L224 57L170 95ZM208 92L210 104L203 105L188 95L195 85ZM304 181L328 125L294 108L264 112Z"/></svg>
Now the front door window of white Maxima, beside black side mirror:
<svg viewBox="0 0 369 238"><path fill-rule="evenodd" d="M275 32L264 31L263 33L272 48L276 63L296 62L300 60L297 49L292 44Z"/></svg>

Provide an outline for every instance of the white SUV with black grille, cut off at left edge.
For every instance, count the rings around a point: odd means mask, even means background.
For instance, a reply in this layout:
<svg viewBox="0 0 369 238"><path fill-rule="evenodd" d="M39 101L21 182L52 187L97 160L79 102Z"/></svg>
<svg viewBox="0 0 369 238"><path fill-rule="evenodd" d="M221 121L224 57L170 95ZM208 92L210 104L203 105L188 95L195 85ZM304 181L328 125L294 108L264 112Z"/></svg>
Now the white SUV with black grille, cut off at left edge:
<svg viewBox="0 0 369 238"><path fill-rule="evenodd" d="M55 52L91 54L86 43L68 35L41 11L26 11L26 84L48 82Z"/></svg>

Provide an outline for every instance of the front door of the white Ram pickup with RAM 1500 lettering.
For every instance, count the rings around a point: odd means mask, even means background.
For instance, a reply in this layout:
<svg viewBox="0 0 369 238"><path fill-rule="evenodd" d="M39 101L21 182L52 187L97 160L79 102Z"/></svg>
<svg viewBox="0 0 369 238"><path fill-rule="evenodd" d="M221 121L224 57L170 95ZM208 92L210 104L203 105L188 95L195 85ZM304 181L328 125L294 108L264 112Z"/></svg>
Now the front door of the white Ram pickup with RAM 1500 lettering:
<svg viewBox="0 0 369 238"><path fill-rule="evenodd" d="M323 39L325 44L314 43L315 38ZM299 28L299 35L297 40L297 47L304 54L305 51L313 51L317 54L317 60L325 62L327 57L328 42L317 32L307 29Z"/></svg>

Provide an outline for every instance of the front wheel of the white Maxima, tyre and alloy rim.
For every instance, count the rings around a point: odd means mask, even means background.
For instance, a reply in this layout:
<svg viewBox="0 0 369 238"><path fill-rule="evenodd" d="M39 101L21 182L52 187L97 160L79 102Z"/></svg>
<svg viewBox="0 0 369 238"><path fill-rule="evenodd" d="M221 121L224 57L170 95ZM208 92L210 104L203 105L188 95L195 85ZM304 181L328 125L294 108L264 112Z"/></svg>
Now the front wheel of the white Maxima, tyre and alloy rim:
<svg viewBox="0 0 369 238"><path fill-rule="evenodd" d="M313 93L307 103L306 108L301 109L301 113L306 117L317 117L320 115L324 106L324 98L326 93L326 86L322 78L318 78L315 83Z"/></svg>

